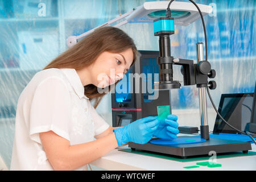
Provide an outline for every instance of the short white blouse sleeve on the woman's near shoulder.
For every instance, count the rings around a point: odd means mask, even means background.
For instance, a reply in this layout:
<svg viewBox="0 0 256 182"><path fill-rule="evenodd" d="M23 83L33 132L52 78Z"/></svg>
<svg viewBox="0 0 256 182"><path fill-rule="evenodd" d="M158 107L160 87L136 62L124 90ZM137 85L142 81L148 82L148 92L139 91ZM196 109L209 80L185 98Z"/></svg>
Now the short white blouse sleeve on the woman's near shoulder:
<svg viewBox="0 0 256 182"><path fill-rule="evenodd" d="M31 102L30 138L40 144L39 133L53 131L70 141L68 123L71 122L71 96L65 82L49 77L35 89Z"/></svg>

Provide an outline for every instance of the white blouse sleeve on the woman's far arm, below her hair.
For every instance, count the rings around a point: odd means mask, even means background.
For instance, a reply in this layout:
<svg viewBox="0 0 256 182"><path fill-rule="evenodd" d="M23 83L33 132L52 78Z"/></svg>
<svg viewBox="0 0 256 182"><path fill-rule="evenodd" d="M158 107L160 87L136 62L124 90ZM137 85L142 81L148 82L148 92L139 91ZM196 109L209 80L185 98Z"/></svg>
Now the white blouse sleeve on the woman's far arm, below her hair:
<svg viewBox="0 0 256 182"><path fill-rule="evenodd" d="M90 107L91 107L90 109L91 116L94 122L94 134L99 135L109 128L109 124L106 123L105 120L100 115L98 115L97 111L92 105L90 105Z"/></svg>

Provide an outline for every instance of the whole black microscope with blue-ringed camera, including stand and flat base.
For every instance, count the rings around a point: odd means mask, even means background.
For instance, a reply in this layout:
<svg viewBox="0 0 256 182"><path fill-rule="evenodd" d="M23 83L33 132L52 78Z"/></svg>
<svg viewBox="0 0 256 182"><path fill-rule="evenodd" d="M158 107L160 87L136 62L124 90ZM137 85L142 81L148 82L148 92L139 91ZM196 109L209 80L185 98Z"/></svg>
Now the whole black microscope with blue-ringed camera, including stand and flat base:
<svg viewBox="0 0 256 182"><path fill-rule="evenodd" d="M169 5L170 6L170 5ZM199 9L200 12L200 9ZM201 15L203 20L203 15ZM203 21L204 25L204 21ZM205 26L204 26L205 30ZM170 35L174 34L174 18L171 17L170 9L166 11L166 17L154 20L154 35L159 36L159 82L154 84L156 90L180 89L180 81L175 81L173 76L172 65L181 65L184 86L196 85L199 89L199 107L200 107L200 137L204 139L200 143L189 144L155 144L148 142L146 144L129 143L132 150L146 150L180 156L185 159L189 156L208 155L210 151L216 151L217 154L243 151L247 153L251 150L249 142L240 142L234 140L224 140L209 137L208 115L207 115L207 87L216 88L215 81L208 81L208 78L214 78L216 71L211 68L207 59L204 59L203 43L196 43L197 63L193 60L174 58L171 56ZM207 38L205 31L205 48L207 49ZM207 56L207 52L205 53ZM184 138L182 136L177 138ZM198 137L189 137L195 139ZM152 139L158 140L158 139Z"/></svg>

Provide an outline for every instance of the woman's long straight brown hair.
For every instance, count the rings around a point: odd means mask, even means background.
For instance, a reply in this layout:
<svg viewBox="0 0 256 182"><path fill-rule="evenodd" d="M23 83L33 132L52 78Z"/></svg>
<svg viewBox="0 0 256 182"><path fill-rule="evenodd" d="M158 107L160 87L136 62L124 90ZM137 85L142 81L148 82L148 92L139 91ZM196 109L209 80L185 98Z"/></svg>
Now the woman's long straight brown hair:
<svg viewBox="0 0 256 182"><path fill-rule="evenodd" d="M133 65L137 58L137 48L133 39L119 28L102 27L61 53L43 69L73 68L79 70L92 64L102 52L119 53L129 48L133 50L133 63L131 64ZM117 83L118 81L115 85ZM108 92L110 92L110 86L108 86ZM84 86L84 94L89 100L96 99L94 102L94 108L96 108L106 93L98 93L97 86L89 84Z"/></svg>

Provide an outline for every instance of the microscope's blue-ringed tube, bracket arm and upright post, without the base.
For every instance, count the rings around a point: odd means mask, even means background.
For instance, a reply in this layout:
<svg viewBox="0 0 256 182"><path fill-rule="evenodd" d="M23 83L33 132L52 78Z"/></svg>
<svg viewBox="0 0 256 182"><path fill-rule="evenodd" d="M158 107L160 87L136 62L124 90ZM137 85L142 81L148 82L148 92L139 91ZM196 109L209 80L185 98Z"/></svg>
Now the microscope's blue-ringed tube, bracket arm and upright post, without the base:
<svg viewBox="0 0 256 182"><path fill-rule="evenodd" d="M164 27L164 28L159 28ZM167 28L168 27L168 28ZM174 34L174 18L159 18L154 22L154 35L159 36L159 84L154 85L154 89L180 89L180 81L174 81L172 65L181 65L184 86L196 85L199 88L199 106L200 106L200 133L201 138L209 139L209 126L207 117L207 98L206 87L216 88L215 81L209 81L214 78L216 72L211 69L210 63L204 60L203 43L197 43L197 63L193 60L179 59L171 56L170 35Z"/></svg>

